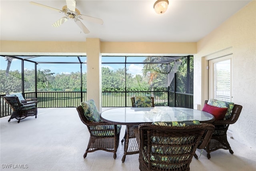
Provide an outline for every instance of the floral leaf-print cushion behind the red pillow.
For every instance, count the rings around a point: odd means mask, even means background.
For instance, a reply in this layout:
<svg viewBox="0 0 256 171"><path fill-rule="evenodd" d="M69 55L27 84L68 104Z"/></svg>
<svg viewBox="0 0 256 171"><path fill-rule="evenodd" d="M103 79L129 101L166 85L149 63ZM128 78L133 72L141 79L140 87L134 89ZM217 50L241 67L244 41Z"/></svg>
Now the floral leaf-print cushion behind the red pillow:
<svg viewBox="0 0 256 171"><path fill-rule="evenodd" d="M231 116L231 112L234 107L233 102L221 101L221 100L216 100L216 99L209 99L207 104L216 106L216 107L228 108L228 110L225 114L224 120L228 119Z"/></svg>

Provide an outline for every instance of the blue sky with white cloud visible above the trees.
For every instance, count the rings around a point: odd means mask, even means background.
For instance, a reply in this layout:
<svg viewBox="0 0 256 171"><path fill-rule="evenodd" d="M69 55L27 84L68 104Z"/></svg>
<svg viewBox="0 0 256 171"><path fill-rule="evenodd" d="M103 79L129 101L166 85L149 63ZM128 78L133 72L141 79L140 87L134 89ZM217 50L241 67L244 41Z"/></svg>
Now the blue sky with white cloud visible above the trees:
<svg viewBox="0 0 256 171"><path fill-rule="evenodd" d="M45 59L46 57L44 57ZM60 58L59 58L60 59ZM59 60L58 59L58 60ZM61 58L62 62L74 62L74 60L70 60L70 58ZM82 60L86 62L86 58L83 57ZM144 58L138 57L130 57L127 58L127 62L142 62ZM40 62L40 58L37 59ZM45 60L44 60L45 61ZM49 62L57 61L54 58L51 58ZM77 62L77 60L76 60ZM124 57L102 57L102 62L125 62ZM4 57L0 57L0 70L6 70L7 61ZM102 64L102 67L110 68L110 70L117 70L118 68L124 68L124 64ZM143 64L127 64L128 73L136 76L136 74L142 75ZM31 70L34 69L34 63L32 62L24 62L24 68ZM59 74L69 74L71 72L80 72L80 64L38 64L37 69L45 70L49 69L53 73ZM13 59L10 67L10 71L21 70L21 62L18 59ZM86 64L83 66L83 72L86 72Z"/></svg>

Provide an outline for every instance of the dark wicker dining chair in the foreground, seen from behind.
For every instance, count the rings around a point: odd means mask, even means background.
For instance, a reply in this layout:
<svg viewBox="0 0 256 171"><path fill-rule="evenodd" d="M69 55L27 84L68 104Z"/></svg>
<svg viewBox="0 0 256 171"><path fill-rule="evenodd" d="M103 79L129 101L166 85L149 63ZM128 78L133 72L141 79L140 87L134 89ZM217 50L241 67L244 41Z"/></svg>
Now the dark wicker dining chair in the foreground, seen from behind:
<svg viewBox="0 0 256 171"><path fill-rule="evenodd" d="M210 137L214 130L214 125L210 123L167 125L143 123L138 126L136 137L139 139L141 171L189 171L203 136Z"/></svg>

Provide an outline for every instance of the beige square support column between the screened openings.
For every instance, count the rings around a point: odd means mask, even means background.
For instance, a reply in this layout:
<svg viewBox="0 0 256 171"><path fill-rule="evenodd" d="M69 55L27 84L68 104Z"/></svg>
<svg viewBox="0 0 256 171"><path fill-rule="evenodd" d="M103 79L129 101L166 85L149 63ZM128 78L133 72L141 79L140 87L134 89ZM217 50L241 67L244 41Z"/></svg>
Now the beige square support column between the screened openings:
<svg viewBox="0 0 256 171"><path fill-rule="evenodd" d="M102 108L102 79L100 39L86 39L87 56L87 100L94 99L98 110Z"/></svg>

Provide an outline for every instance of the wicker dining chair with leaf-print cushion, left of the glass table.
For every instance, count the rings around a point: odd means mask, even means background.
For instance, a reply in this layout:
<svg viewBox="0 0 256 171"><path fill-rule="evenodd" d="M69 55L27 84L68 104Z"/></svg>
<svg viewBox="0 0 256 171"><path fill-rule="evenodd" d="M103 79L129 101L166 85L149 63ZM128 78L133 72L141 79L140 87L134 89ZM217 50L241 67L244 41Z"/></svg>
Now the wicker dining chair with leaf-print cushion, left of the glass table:
<svg viewBox="0 0 256 171"><path fill-rule="evenodd" d="M122 125L112 125L100 120L100 113L98 112L98 109L96 108L92 99L84 103L88 104L86 110L84 110L82 104L76 107L81 121L87 126L88 131L90 132L90 139L84 153L84 158L87 156L87 153L97 150L104 150L114 153L113 157L116 159L116 151L119 145L120 130ZM99 118L97 121L91 120L92 117L94 117L93 113L98 115L96 116ZM88 116L91 117L88 118Z"/></svg>

